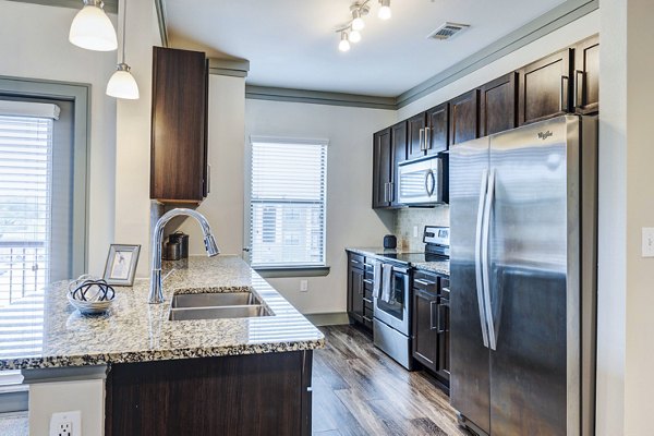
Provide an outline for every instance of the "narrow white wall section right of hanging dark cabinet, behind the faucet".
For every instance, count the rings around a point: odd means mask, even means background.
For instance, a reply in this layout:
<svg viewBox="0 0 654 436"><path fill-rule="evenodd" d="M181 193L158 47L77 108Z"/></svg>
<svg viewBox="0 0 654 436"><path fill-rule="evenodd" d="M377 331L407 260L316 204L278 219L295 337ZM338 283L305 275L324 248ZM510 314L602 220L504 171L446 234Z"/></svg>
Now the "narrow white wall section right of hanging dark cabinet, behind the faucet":
<svg viewBox="0 0 654 436"><path fill-rule="evenodd" d="M245 80L209 76L210 192L197 210L214 231L222 254L241 255L245 158ZM187 219L179 230L190 235L191 254L205 254L202 231Z"/></svg>

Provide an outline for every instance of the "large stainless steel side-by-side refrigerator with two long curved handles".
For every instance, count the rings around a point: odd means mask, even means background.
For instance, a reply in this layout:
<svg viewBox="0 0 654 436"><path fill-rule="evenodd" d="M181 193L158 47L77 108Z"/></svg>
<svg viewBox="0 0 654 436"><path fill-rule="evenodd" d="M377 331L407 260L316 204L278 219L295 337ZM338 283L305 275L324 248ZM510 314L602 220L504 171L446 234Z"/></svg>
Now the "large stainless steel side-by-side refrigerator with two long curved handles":
<svg viewBox="0 0 654 436"><path fill-rule="evenodd" d="M593 435L597 120L452 146L451 404L488 435Z"/></svg>

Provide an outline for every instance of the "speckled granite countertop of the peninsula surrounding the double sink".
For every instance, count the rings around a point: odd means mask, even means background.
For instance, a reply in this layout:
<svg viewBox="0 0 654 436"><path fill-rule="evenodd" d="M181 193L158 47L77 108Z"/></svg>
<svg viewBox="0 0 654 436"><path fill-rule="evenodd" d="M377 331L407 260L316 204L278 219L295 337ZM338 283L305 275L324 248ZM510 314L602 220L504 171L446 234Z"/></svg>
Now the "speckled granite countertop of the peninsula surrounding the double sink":
<svg viewBox="0 0 654 436"><path fill-rule="evenodd" d="M83 366L313 350L325 337L238 256L192 256L165 263L166 302L148 304L149 279L116 287L105 315L84 316L68 302L68 281L47 287L43 310L24 327L31 347L0 336L0 370ZM274 316L169 320L174 293L252 290ZM8 308L11 308L8 307ZM2 316L0 308L0 317ZM29 339L27 339L29 340Z"/></svg>

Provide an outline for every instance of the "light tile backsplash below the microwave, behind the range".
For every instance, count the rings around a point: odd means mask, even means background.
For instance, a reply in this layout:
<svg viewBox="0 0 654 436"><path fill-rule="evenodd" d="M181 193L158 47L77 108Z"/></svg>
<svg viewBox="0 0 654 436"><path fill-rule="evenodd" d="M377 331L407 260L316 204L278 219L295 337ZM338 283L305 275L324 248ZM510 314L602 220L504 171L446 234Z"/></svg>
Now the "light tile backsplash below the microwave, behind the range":
<svg viewBox="0 0 654 436"><path fill-rule="evenodd" d="M449 226L449 206L398 210L395 229L398 249L422 252L425 247L422 241L425 226ZM413 235L414 227L417 227L417 237Z"/></svg>

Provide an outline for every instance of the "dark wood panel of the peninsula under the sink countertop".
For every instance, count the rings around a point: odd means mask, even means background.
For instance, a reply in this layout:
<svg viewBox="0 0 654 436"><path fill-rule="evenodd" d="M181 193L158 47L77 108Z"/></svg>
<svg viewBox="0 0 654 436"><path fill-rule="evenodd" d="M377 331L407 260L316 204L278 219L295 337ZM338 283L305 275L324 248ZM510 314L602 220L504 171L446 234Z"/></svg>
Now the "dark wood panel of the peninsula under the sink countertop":
<svg viewBox="0 0 654 436"><path fill-rule="evenodd" d="M312 351L125 363L107 376L107 436L311 435Z"/></svg>

